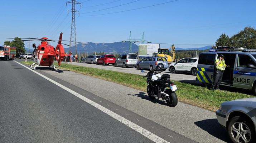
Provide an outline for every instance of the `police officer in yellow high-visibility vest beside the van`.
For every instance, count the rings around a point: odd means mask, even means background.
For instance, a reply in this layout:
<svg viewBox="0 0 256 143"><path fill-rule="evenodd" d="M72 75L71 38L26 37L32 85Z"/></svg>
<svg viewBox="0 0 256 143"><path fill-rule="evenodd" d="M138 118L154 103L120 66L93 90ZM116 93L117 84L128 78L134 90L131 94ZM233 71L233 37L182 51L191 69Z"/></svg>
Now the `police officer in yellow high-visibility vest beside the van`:
<svg viewBox="0 0 256 143"><path fill-rule="evenodd" d="M215 71L213 73L213 83L212 83L212 90L219 89L219 84L221 84L223 72L226 68L225 60L224 60L224 55L220 54L219 59L215 61ZM229 67L229 66L227 66Z"/></svg>

